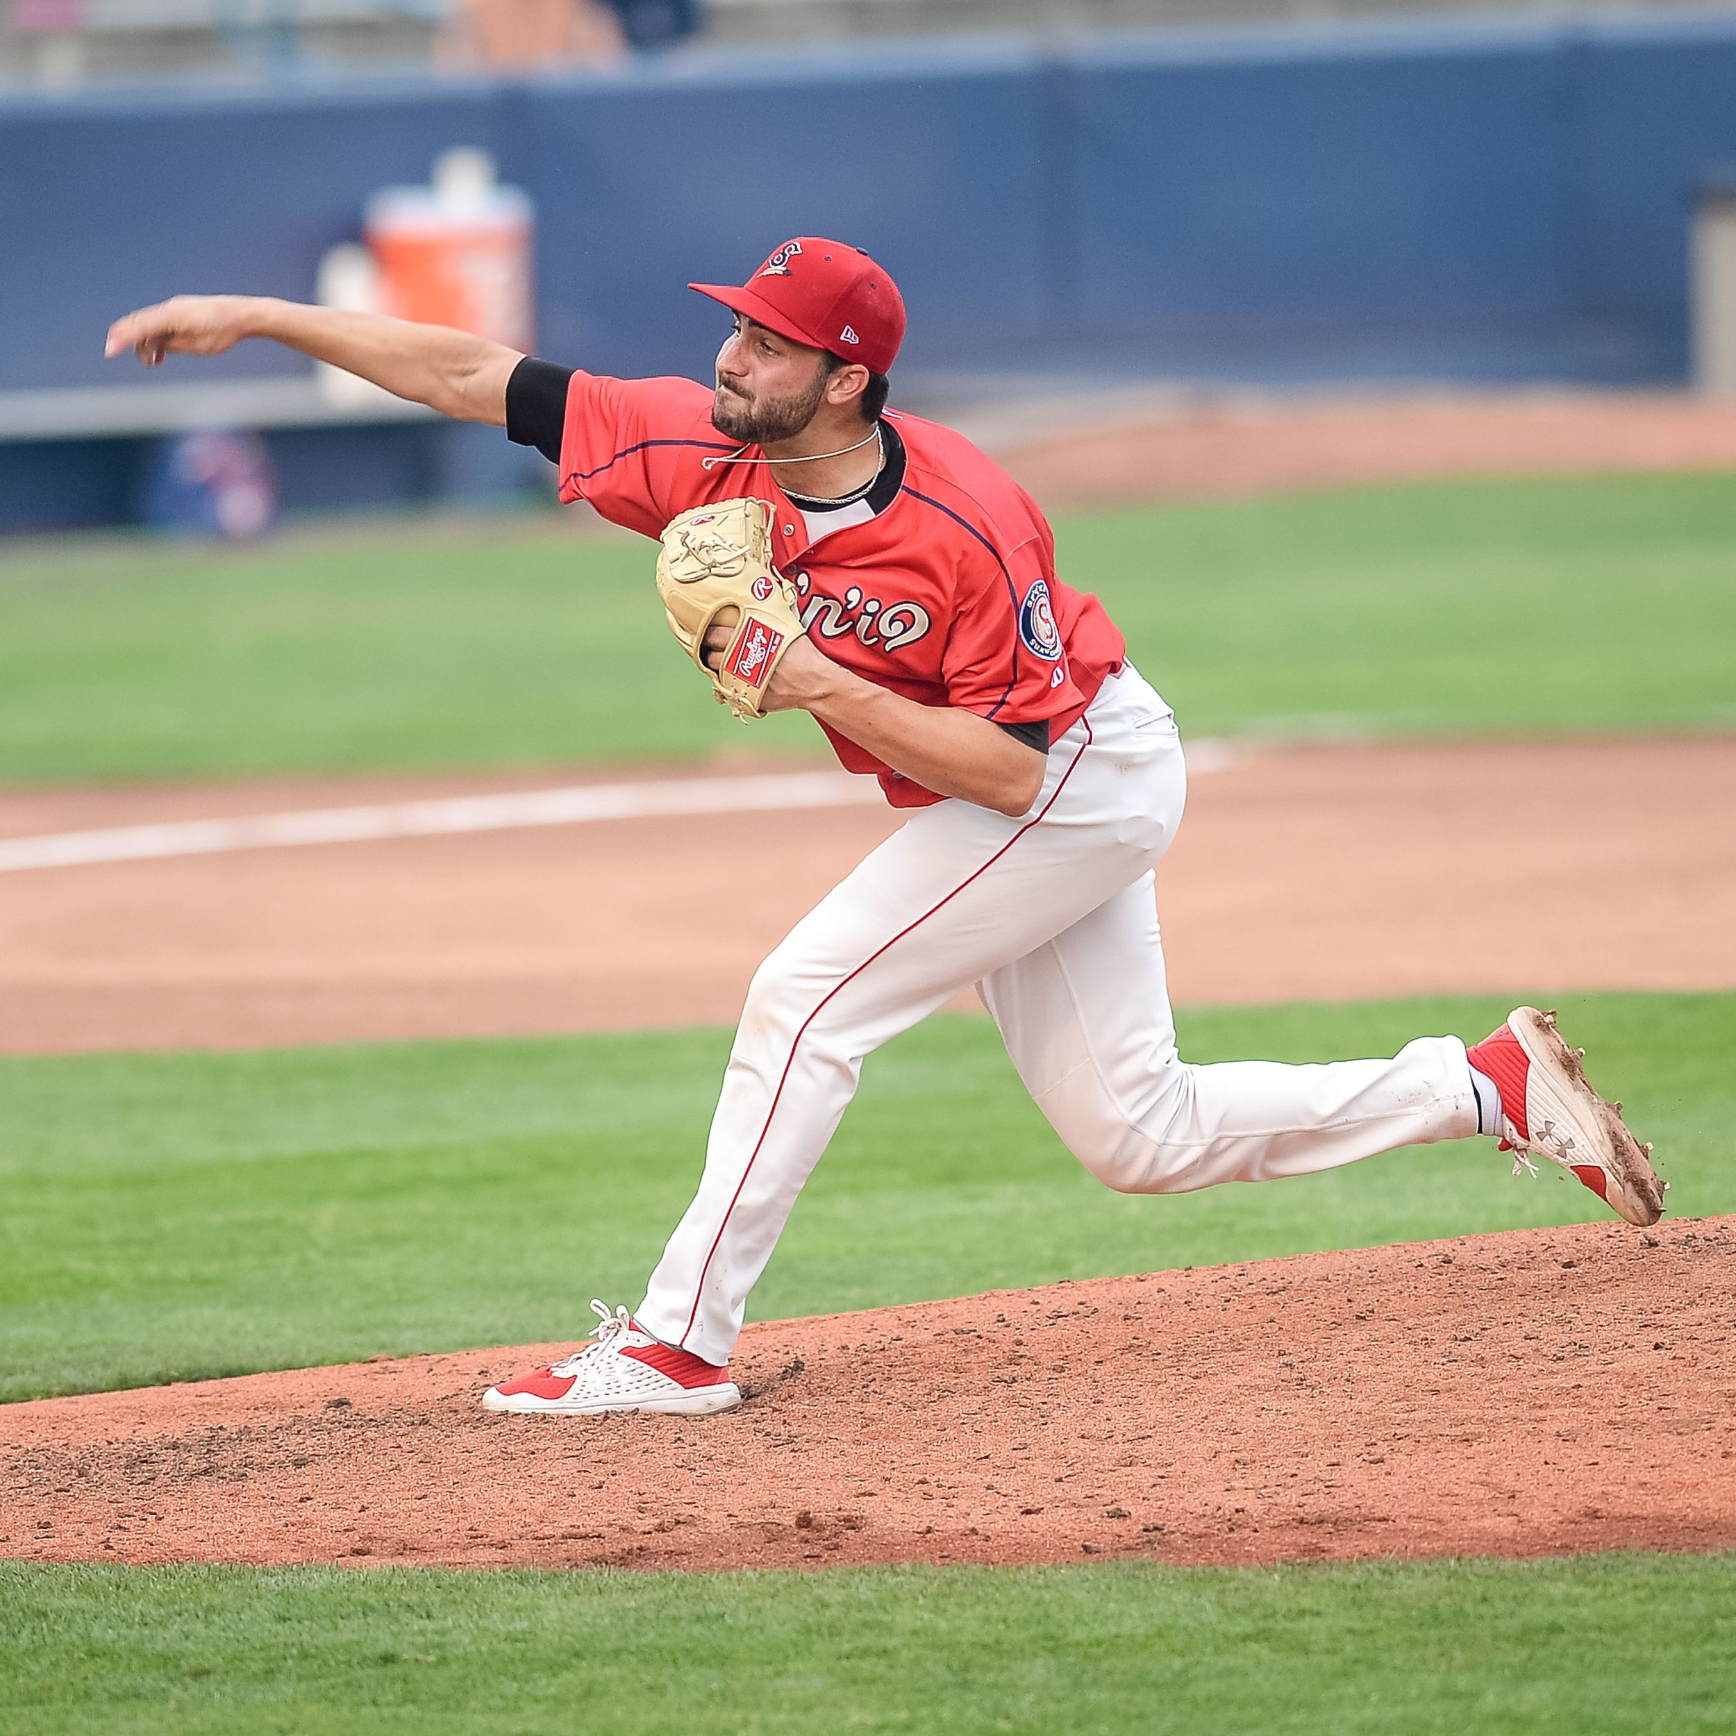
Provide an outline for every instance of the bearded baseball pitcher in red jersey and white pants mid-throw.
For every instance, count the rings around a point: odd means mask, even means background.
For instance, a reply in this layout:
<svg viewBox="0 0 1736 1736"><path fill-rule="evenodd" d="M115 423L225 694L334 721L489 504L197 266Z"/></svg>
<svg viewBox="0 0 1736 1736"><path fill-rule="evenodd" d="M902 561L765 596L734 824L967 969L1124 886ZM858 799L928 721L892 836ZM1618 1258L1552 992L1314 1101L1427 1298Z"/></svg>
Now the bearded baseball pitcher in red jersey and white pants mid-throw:
<svg viewBox="0 0 1736 1736"><path fill-rule="evenodd" d="M760 965L705 1170L632 1314L483 1394L495 1411L731 1410L748 1292L863 1059L976 986L1069 1151L1123 1193L1330 1170L1486 1134L1634 1224L1663 1191L1552 1014L1467 1050L1191 1066L1153 866L1187 788L1175 717L1102 604L1055 571L1036 503L967 439L887 408L904 302L866 253L785 241L740 288L712 385L618 380L484 339L259 297L175 297L109 328L146 365L273 339L399 398L505 427L561 500L660 543L677 641L741 717L811 712L908 814Z"/></svg>

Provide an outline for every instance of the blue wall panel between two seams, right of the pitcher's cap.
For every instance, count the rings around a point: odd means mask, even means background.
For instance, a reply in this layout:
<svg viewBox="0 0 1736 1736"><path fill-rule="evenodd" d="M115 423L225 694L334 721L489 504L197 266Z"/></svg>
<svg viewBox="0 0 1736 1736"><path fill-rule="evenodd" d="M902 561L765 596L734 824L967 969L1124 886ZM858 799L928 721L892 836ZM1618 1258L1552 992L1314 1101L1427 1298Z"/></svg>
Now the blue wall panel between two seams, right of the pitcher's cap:
<svg viewBox="0 0 1736 1736"><path fill-rule="evenodd" d="M1087 52L1080 314L1552 309L1562 76L1543 33Z"/></svg>

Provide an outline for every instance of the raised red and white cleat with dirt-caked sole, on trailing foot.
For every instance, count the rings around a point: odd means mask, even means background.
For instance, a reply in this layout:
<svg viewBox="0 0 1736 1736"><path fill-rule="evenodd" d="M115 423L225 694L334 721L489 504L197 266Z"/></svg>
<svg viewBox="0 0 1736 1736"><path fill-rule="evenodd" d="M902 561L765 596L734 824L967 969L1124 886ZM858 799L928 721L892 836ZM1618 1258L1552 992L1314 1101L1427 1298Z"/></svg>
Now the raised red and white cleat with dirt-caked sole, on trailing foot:
<svg viewBox="0 0 1736 1736"><path fill-rule="evenodd" d="M1514 1175L1536 1175L1533 1156L1559 1163L1616 1208L1630 1224L1663 1217L1663 1184L1653 1172L1651 1146L1621 1121L1621 1104L1604 1102L1580 1066L1583 1049L1569 1049L1552 1012L1516 1007L1507 1023L1467 1050L1470 1064L1502 1094L1502 1151L1512 1151Z"/></svg>

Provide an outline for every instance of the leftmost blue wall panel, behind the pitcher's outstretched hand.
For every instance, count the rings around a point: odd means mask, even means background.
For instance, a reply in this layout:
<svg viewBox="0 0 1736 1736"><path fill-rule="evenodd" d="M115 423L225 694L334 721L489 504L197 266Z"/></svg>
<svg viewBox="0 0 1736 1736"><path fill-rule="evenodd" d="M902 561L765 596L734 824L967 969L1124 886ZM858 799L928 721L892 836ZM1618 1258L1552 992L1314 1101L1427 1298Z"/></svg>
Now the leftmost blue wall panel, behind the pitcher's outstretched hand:
<svg viewBox="0 0 1736 1736"><path fill-rule="evenodd" d="M113 385L111 319L181 290L311 300L361 205L448 144L502 151L495 87L0 106L0 391ZM507 158L509 168L519 163ZM302 368L247 344L203 377Z"/></svg>

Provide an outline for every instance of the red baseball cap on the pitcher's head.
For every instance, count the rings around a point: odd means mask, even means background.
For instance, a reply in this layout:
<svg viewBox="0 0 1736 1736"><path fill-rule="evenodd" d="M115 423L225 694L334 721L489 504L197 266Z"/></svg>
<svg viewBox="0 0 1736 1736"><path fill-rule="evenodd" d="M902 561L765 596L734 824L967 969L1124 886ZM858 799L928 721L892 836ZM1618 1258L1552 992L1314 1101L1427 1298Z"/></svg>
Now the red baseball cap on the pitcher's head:
<svg viewBox="0 0 1736 1736"><path fill-rule="evenodd" d="M785 241L741 288L689 283L731 312L779 337L830 349L873 373L892 366L904 340L904 297L859 247L802 234Z"/></svg>

